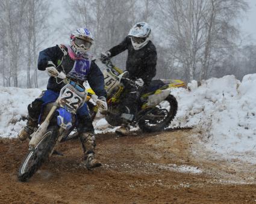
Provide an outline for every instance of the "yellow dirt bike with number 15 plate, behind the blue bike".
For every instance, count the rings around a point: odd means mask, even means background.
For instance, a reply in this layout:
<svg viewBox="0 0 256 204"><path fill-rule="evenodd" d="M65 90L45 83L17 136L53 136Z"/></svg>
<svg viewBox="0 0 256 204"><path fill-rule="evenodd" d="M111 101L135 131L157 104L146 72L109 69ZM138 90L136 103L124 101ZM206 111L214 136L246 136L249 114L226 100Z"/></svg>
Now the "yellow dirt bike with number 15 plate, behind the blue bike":
<svg viewBox="0 0 256 204"><path fill-rule="evenodd" d="M108 124L119 126L122 124L120 116L123 113L122 98L125 87L121 81L128 80L128 83L134 81L125 78L126 72L120 70L112 64L110 59L101 62L96 59L96 64L104 74L105 89L107 91L108 110L101 112L105 115ZM176 98L170 94L172 88L184 87L181 80L152 80L149 86L149 92L142 94L138 103L138 111L131 125L139 125L139 128L145 132L161 131L170 125L170 122L176 115L178 103ZM94 93L92 89L89 91ZM89 103L92 110L92 118L96 115L98 108Z"/></svg>

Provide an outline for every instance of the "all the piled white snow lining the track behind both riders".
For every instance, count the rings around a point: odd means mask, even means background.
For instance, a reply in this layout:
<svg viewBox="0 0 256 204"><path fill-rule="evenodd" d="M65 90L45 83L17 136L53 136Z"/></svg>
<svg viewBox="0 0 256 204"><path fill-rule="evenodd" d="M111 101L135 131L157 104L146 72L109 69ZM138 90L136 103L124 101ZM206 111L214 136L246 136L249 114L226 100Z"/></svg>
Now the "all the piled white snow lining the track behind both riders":
<svg viewBox="0 0 256 204"><path fill-rule="evenodd" d="M193 81L188 89L173 89L178 112L170 127L193 126L208 149L224 157L239 157L251 162L256 153L256 74L206 80L201 86ZM40 89L0 89L0 136L16 137L25 125L27 105ZM96 130L111 130L105 119L95 122Z"/></svg>

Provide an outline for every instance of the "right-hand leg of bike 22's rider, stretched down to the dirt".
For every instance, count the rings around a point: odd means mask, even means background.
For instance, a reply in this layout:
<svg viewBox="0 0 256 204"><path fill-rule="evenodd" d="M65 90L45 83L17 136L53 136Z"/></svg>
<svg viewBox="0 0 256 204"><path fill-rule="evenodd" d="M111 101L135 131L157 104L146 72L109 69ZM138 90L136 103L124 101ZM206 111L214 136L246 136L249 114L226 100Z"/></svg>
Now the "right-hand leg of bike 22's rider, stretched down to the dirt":
<svg viewBox="0 0 256 204"><path fill-rule="evenodd" d="M78 131L78 136L80 137L80 141L82 143L83 151L84 151L84 159L86 160L87 169L92 169L95 167L101 166L101 163L96 159L95 148L95 134L94 128L92 124L92 119L90 118L87 104L84 104L78 110L78 125L76 127Z"/></svg>

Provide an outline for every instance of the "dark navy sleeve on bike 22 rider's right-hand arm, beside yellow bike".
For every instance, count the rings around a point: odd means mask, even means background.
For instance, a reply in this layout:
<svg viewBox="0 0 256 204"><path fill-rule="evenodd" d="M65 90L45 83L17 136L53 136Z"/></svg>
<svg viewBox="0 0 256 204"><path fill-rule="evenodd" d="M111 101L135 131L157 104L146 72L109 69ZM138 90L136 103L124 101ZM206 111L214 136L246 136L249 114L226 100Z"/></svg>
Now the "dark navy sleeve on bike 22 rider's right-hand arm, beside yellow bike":
<svg viewBox="0 0 256 204"><path fill-rule="evenodd" d="M90 72L88 74L88 82L98 97L107 98L107 92L105 90L104 75L99 67L92 61L90 66Z"/></svg>

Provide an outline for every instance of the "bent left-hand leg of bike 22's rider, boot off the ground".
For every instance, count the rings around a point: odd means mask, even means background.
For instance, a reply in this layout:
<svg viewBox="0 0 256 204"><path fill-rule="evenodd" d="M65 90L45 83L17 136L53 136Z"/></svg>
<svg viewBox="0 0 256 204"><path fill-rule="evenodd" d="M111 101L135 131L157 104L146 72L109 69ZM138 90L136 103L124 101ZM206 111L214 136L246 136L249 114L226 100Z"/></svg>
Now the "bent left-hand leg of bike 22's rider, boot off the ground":
<svg viewBox="0 0 256 204"><path fill-rule="evenodd" d="M20 140L27 139L38 127L38 119L44 103L54 101L58 97L58 93L51 90L43 91L42 94L31 104L28 105L28 122L22 130L19 131L18 137Z"/></svg>

